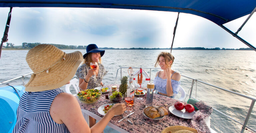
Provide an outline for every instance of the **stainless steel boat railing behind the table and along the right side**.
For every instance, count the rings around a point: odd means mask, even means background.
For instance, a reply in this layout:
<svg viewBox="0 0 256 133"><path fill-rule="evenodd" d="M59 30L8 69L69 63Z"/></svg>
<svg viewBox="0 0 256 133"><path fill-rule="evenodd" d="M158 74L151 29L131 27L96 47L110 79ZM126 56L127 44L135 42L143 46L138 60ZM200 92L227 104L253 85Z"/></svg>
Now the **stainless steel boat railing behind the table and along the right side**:
<svg viewBox="0 0 256 133"><path fill-rule="evenodd" d="M115 83L116 83L116 81L117 81L117 74L118 74L118 70L119 70L119 69L120 69L120 74L121 74L120 77L122 77L122 68L129 68L129 67L119 67L119 68L117 69ZM150 68L150 67L132 67L132 68L150 69L150 74L149 74L150 81L151 81L151 70L152 70L152 69L160 69L160 68ZM181 74L181 76L186 77L186 78L189 78L189 79L192 79L192 84L191 84L191 88L190 88L189 98L192 97L191 95L192 95L192 90L193 90L194 83L195 83L195 82L200 82L200 83L203 83L203 84L206 84L206 85L215 87L215 88L217 88L217 89L221 89L221 90L227 91L227 92L229 92L229 93L232 93L232 94L235 94L235 95L238 95L238 96L241 96L241 97L244 97L244 98L247 98L247 99L252 100L251 105L250 105L250 108L249 108L249 111L248 111L248 113L247 113L247 116L246 116L246 118L245 118L244 123L235 120L234 118L232 118L232 117L226 115L225 113L223 113L223 112L217 110L216 108L213 108L213 110L215 110L215 111L219 112L220 114L222 114L222 115L224 115L224 116L230 118L231 120L233 120L233 121L235 121L235 122L237 122L237 123L243 125L240 133L243 133L244 130L245 130L245 128L248 128L248 129L250 129L250 130L252 130L252 131L254 131L254 132L256 133L256 130L255 130L255 129L252 129L251 127L247 126L248 120L249 120L249 118L250 118L250 115L251 115L251 113L252 113L252 109L253 109L254 104L255 104L255 101L256 101L255 98L252 98L252 97L249 97L249 96L246 96L246 95L243 95L243 94L240 94L240 93L237 93L237 92L234 92L234 91L231 91L231 90L228 90L228 89L225 89L225 88L216 86L216 85L212 85L212 84L209 84L209 83L207 83L207 82L204 82L204 81L201 81L201 80L198 80L198 79L195 79L195 78L191 78L191 77L188 77L188 76L185 76L185 75L182 75L182 74ZM186 95L187 95L187 94L186 94ZM192 98L194 98L194 97L192 97ZM194 99L196 99L196 98L194 98Z"/></svg>

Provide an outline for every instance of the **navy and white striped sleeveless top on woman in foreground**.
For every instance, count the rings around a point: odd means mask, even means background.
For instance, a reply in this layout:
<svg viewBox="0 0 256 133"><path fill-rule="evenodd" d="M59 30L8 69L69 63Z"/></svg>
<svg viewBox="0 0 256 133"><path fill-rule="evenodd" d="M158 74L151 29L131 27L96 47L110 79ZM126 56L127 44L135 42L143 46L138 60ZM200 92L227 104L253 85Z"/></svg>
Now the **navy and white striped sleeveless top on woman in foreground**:
<svg viewBox="0 0 256 133"><path fill-rule="evenodd" d="M60 88L40 92L25 92L17 109L13 133L69 133L65 124L53 121L50 107Z"/></svg>

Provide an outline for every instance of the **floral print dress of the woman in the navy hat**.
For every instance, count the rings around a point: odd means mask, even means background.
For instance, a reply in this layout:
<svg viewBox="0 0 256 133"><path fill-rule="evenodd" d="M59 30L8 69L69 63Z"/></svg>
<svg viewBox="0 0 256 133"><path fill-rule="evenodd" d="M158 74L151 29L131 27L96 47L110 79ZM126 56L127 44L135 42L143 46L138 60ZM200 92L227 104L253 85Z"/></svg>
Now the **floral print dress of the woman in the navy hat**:
<svg viewBox="0 0 256 133"><path fill-rule="evenodd" d="M86 89L93 89L100 86L100 82L102 81L103 76L105 76L106 73L108 72L102 64L98 63L98 65L99 65L98 77L96 77L95 75L91 76ZM76 71L76 78L78 80L79 78L84 79L89 69L91 69L90 66L86 64L82 64L80 67L78 67ZM81 88L81 89L84 89L84 88Z"/></svg>

